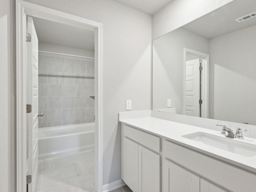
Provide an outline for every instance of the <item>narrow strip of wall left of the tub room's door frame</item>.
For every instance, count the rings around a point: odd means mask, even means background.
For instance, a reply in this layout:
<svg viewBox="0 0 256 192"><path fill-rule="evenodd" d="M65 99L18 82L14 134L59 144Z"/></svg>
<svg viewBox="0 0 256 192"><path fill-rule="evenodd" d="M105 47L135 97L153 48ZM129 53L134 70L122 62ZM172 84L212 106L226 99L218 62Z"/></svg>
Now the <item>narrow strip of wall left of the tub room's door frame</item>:
<svg viewBox="0 0 256 192"><path fill-rule="evenodd" d="M15 4L12 0L0 1L0 190L15 190L15 33L13 17Z"/></svg>

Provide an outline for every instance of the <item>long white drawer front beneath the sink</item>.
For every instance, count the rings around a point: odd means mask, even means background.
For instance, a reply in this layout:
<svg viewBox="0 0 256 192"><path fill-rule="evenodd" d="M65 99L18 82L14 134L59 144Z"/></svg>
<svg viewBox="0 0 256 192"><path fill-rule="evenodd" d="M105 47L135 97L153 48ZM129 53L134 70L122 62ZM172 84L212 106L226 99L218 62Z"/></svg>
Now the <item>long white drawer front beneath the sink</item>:
<svg viewBox="0 0 256 192"><path fill-rule="evenodd" d="M164 156L234 192L255 192L256 174L165 140Z"/></svg>

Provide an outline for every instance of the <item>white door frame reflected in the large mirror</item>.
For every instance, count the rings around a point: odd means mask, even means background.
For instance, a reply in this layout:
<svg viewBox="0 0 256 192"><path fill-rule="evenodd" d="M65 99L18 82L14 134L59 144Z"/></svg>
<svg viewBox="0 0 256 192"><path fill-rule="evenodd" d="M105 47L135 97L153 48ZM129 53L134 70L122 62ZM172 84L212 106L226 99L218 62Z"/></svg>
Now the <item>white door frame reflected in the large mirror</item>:
<svg viewBox="0 0 256 192"><path fill-rule="evenodd" d="M201 117L209 118L209 54L202 53L199 51L195 51L193 49L188 49L184 47L183 52L183 115L185 115L185 99L186 99L186 54L192 54L198 56L200 59L205 58L207 64L203 67L202 70L202 89L201 89L201 98L203 100L203 104L201 105ZM198 101L199 102L199 101Z"/></svg>

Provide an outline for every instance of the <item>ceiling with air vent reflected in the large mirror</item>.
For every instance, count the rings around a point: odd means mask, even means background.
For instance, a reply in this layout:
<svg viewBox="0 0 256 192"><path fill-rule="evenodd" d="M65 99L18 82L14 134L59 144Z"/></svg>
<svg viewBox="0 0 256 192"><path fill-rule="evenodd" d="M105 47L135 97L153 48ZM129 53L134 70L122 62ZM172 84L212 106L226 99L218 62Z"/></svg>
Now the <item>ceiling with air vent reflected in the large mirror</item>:
<svg viewBox="0 0 256 192"><path fill-rule="evenodd" d="M182 28L197 35L212 39L217 36L256 25L256 17L241 23L235 21L235 19L255 11L255 0L246 0L246 3L244 0L236 0L184 25Z"/></svg>

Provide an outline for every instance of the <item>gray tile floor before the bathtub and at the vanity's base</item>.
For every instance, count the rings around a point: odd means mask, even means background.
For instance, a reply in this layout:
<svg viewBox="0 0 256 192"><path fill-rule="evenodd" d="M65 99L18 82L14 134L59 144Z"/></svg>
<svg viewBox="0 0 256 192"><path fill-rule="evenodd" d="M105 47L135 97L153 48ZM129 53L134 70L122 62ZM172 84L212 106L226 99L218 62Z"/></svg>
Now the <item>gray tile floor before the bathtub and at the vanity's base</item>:
<svg viewBox="0 0 256 192"><path fill-rule="evenodd" d="M94 150L40 160L36 192L94 192ZM132 192L127 186L111 192Z"/></svg>

